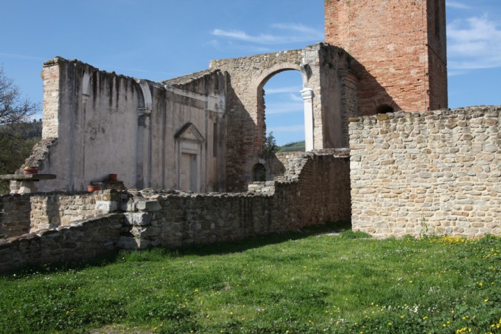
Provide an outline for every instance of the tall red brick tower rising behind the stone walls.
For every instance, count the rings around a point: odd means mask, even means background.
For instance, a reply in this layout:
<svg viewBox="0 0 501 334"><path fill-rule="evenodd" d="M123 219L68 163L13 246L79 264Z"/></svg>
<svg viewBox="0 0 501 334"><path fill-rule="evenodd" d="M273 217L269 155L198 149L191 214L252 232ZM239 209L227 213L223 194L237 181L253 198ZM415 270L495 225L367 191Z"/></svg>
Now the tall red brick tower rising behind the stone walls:
<svg viewBox="0 0 501 334"><path fill-rule="evenodd" d="M325 33L354 58L359 115L447 108L445 0L325 0Z"/></svg>

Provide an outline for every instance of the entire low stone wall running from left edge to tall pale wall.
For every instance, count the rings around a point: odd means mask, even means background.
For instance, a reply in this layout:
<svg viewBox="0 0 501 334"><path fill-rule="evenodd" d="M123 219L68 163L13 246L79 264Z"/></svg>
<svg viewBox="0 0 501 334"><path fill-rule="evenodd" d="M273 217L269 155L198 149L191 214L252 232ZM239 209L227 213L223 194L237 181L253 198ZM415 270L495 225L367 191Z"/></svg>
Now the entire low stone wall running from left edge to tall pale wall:
<svg viewBox="0 0 501 334"><path fill-rule="evenodd" d="M0 273L120 249L209 244L347 220L349 158L345 152L324 154L293 159L270 193L129 189L7 196L4 207L24 207L23 215L13 214L18 221L32 217L38 223L31 234L0 240ZM79 217L84 220L73 221Z"/></svg>

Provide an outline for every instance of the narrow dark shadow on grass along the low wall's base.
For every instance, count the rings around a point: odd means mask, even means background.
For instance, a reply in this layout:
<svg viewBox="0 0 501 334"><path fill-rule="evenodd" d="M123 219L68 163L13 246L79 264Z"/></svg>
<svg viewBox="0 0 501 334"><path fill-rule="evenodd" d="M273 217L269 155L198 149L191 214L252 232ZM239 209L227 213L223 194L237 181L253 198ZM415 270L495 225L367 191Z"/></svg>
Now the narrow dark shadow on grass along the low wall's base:
<svg viewBox="0 0 501 334"><path fill-rule="evenodd" d="M101 255L93 260L32 265L16 269L8 274L12 275L10 276L12 278L21 278L23 276L29 276L37 273L56 273L68 270L79 271L89 267L103 267L108 264L118 262L124 253L134 253L134 262L154 261L154 258L158 258L159 256L181 257L186 255L224 255L228 253L239 253L244 250L259 248L271 244L280 244L284 241L298 240L319 234L335 234L347 230L351 230L351 222L349 221L327 222L324 225L309 226L301 230L257 235L255 237L248 237L241 240L221 241L215 244L189 245L180 248L156 247L149 248L148 250L121 250L116 253ZM154 251L154 256L150 256L148 254L151 251Z"/></svg>

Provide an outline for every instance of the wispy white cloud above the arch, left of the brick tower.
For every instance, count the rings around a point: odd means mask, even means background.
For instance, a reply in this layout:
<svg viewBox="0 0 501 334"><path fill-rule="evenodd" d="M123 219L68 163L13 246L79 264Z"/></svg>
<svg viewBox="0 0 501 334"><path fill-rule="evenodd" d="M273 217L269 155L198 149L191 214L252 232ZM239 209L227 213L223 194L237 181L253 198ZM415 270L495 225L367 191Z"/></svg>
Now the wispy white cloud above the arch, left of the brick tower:
<svg viewBox="0 0 501 334"><path fill-rule="evenodd" d="M214 29L212 35L264 45L324 40L324 32L303 24L272 24L273 33L253 35L240 30ZM284 33L286 31L286 33Z"/></svg>

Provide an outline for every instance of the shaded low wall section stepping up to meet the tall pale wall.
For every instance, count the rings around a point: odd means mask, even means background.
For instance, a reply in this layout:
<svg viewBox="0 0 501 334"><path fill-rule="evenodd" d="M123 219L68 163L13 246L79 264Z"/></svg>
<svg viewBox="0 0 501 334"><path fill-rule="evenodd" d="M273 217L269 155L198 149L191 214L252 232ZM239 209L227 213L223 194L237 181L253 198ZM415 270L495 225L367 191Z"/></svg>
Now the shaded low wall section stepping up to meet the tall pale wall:
<svg viewBox="0 0 501 334"><path fill-rule="evenodd" d="M121 246L209 244L349 219L349 158L303 153L291 164L274 193L142 191L127 204L132 235Z"/></svg>

